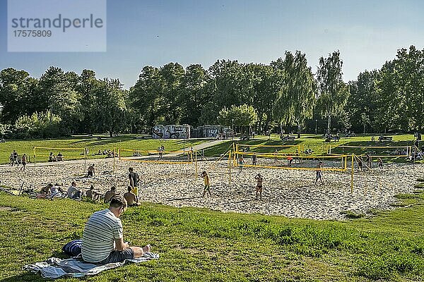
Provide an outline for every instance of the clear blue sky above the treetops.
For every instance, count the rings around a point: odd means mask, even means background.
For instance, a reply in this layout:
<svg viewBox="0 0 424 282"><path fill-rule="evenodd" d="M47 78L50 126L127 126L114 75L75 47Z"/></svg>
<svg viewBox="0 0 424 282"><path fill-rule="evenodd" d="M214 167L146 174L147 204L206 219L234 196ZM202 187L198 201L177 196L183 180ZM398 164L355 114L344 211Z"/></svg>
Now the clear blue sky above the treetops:
<svg viewBox="0 0 424 282"><path fill-rule="evenodd" d="M316 71L320 56L341 51L343 79L380 68L396 50L424 48L424 1L108 0L107 51L7 51L7 1L0 0L0 69L38 78L49 66L136 82L146 65L217 59L266 63L300 50Z"/></svg>

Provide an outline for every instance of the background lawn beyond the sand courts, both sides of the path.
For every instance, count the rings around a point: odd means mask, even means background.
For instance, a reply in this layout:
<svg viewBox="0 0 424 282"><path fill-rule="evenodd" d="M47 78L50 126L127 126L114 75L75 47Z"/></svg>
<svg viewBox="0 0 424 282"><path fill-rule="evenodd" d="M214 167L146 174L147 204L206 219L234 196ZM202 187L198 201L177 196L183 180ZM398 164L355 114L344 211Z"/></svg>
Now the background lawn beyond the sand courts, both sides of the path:
<svg viewBox="0 0 424 282"><path fill-rule="evenodd" d="M189 148L194 145L199 145L207 140L143 140L134 139L135 135L121 135L118 137L105 137L102 136L101 140L97 140L97 137L73 137L69 139L57 139L57 140L10 140L6 143L0 143L0 163L8 163L8 157L13 149L16 149L21 155L23 153L28 154L30 159L33 159L33 147L54 147L54 148L88 148L90 154L88 158L98 158L104 156L93 156L92 154L98 152L98 150L111 149L114 147L117 149L143 149L143 150L155 150L160 145L164 145L167 151L177 151L183 149L185 146ZM326 152L329 143L324 142L324 139L320 135L302 135L300 139L281 141L278 135L271 135L271 139L268 137L257 136L254 140L226 140L219 145L205 149L206 156L219 157L232 149L232 143L236 144L247 144L247 145L301 145L304 149L312 149L314 155L321 155ZM357 137L342 137L338 142L331 142L333 147L338 145L351 145L351 146L407 146L413 145L413 135L394 135L393 142L371 142L371 136L357 136ZM297 147L293 148L278 148L278 152L294 152ZM252 149L252 152L273 152L273 148L259 148ZM49 152L54 152L56 155L58 152L64 154L65 159L81 159L83 157L83 150L79 149L76 151L69 150L51 150L51 149L37 149L37 161L47 161L47 155ZM340 149L333 149L333 152L342 153ZM363 154L367 152L367 149L352 149L355 154ZM346 151L345 151L346 153ZM388 161L405 161L404 158L388 159Z"/></svg>

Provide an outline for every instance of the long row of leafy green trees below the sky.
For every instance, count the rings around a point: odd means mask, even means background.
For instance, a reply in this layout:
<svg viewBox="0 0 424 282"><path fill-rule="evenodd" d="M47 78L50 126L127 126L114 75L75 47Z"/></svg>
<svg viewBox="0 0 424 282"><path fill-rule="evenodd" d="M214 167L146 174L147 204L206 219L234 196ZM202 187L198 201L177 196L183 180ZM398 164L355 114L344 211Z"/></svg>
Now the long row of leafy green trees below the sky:
<svg viewBox="0 0 424 282"><path fill-rule="evenodd" d="M150 133L155 124L222 124L256 133L412 132L424 126L424 49L399 49L382 68L342 79L339 51L317 70L300 51L261 63L218 60L205 69L179 63L145 66L125 90L50 67L40 78L0 72L0 135L56 137L77 133Z"/></svg>

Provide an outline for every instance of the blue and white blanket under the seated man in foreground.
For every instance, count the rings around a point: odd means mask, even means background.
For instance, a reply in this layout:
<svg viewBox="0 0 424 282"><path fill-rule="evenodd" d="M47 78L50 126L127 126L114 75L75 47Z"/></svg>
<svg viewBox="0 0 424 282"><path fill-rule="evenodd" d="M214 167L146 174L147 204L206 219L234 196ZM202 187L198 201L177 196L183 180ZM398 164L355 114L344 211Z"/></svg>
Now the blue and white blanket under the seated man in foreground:
<svg viewBox="0 0 424 282"><path fill-rule="evenodd" d="M143 257L137 257L136 259L126 259L124 262L98 265L83 262L82 259L78 258L58 259L56 257L51 257L47 259L46 262L27 264L23 266L23 269L34 273L40 273L43 278L54 279L61 276L82 277L87 275L96 275L107 269L114 269L126 264L126 262L139 263L158 258L158 254L153 252L145 252Z"/></svg>

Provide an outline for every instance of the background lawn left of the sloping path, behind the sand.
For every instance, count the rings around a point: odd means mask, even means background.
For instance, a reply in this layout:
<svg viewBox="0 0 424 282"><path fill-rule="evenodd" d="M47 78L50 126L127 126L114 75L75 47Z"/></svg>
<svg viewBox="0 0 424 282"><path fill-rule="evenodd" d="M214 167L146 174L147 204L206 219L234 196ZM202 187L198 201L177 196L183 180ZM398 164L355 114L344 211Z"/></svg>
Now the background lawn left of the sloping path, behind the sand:
<svg viewBox="0 0 424 282"><path fill-rule="evenodd" d="M19 155L26 153L33 159L33 147L52 147L52 148L88 148L89 158L98 158L105 156L93 156L92 154L98 150L111 149L158 149L160 145L164 145L167 151L177 151L185 147L191 147L201 144L207 140L153 140L153 139L135 139L135 135L121 135L117 137L102 136L101 140L97 137L72 137L69 139L54 140L11 140L0 143L0 164L8 163L8 157L11 152L16 149ZM48 156L49 152L57 155L61 152L65 159L80 159L83 157L83 149L76 151L60 150L60 149L37 149L37 155ZM82 154L82 155L81 155ZM47 157L37 157L37 161L47 161Z"/></svg>

